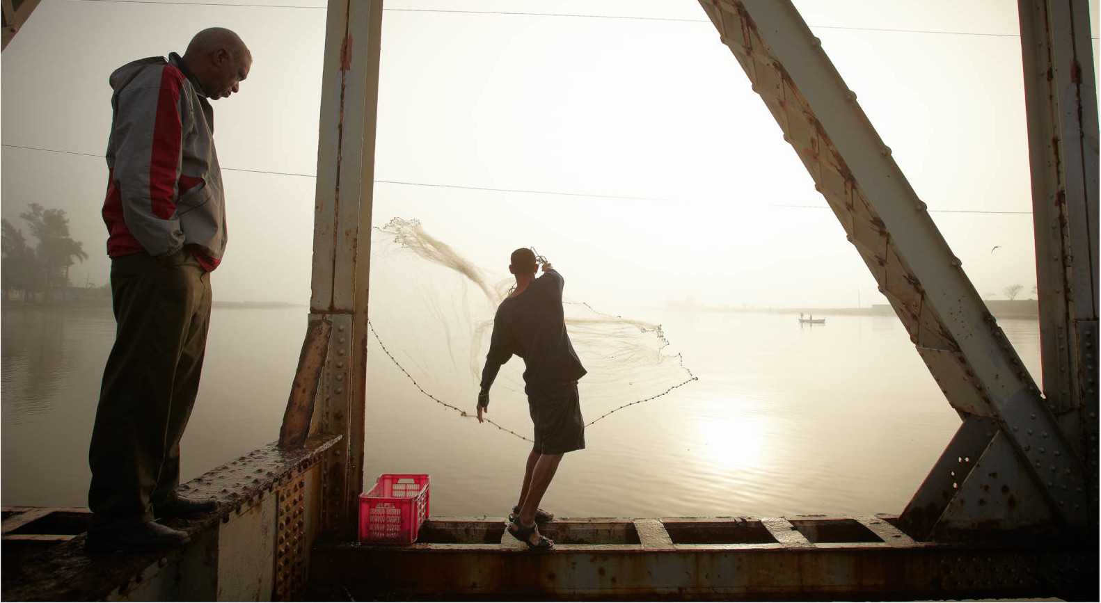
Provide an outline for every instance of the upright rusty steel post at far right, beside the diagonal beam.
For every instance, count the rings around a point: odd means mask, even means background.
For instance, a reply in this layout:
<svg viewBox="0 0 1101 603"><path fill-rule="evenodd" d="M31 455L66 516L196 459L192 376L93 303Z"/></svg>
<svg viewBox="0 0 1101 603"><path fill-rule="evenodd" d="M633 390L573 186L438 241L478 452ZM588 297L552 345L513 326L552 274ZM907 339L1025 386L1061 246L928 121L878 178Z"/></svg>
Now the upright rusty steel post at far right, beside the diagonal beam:
<svg viewBox="0 0 1101 603"><path fill-rule="evenodd" d="M1098 522L1098 105L1087 2L1018 0L1046 403Z"/></svg>

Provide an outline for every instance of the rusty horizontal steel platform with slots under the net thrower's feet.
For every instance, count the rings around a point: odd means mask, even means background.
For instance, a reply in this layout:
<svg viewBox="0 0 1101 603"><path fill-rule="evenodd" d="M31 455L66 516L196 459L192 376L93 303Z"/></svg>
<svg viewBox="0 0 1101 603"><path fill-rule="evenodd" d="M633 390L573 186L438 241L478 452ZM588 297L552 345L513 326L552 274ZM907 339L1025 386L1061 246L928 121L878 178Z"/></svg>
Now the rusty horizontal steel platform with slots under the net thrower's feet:
<svg viewBox="0 0 1101 603"><path fill-rule="evenodd" d="M346 600L1097 599L1095 539L918 542L896 523L893 515L564 519L544 529L555 549L531 552L504 531L503 518L435 518L406 547L317 546L307 592Z"/></svg>

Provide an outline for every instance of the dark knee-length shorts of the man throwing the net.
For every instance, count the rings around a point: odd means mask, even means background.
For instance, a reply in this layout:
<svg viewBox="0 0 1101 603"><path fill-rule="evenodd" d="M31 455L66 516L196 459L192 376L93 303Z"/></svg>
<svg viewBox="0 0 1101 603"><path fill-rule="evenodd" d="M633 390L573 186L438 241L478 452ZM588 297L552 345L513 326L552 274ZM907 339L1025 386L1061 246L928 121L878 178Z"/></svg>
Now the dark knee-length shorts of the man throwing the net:
<svg viewBox="0 0 1101 603"><path fill-rule="evenodd" d="M527 394L527 408L535 424L534 450L562 454L585 448L585 419L576 381Z"/></svg>

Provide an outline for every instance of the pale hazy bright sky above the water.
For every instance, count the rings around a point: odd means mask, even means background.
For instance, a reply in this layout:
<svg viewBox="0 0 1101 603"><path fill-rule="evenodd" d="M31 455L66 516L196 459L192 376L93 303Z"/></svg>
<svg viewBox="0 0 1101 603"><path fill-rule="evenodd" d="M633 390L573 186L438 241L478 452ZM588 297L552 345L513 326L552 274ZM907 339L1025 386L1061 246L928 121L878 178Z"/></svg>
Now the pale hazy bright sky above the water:
<svg viewBox="0 0 1101 603"><path fill-rule="evenodd" d="M1015 1L796 4L930 209L1031 209ZM864 305L884 302L830 211L776 207L825 201L695 0L386 8L378 179L653 200L379 183L378 223L419 218L504 275L512 249L535 245L566 275L567 296L612 310L686 297L851 306L859 292ZM700 21L393 10L414 8ZM316 169L323 8L43 0L2 55L2 215L18 221L30 201L64 208L90 255L74 283L106 282L103 160L8 145L101 155L111 70L182 52L210 25L240 33L255 61L241 92L215 102L229 212L216 298L305 304L314 179L301 175ZM981 294L1031 290L1029 215L933 216Z"/></svg>

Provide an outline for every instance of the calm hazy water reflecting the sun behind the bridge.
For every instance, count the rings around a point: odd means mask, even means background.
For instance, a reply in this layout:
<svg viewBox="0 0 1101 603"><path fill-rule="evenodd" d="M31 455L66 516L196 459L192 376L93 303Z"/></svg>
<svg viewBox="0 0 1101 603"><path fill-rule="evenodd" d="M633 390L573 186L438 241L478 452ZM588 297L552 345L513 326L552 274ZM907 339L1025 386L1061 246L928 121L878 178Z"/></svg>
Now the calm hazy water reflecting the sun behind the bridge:
<svg viewBox="0 0 1101 603"><path fill-rule="evenodd" d="M559 515L897 513L959 425L894 317L639 317L664 325L700 381L589 427L544 500ZM1037 324L1000 325L1038 375ZM183 479L277 437L305 326L306 308L214 310ZM113 329L106 307L3 308L4 505L86 505ZM434 514L508 512L530 445L425 399L373 344L368 380L369 482L429 473ZM580 391L584 409L585 380ZM475 392L438 394L473 406ZM513 398L495 396L490 416L530 434Z"/></svg>

